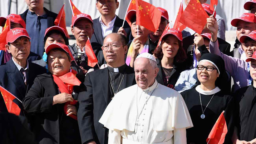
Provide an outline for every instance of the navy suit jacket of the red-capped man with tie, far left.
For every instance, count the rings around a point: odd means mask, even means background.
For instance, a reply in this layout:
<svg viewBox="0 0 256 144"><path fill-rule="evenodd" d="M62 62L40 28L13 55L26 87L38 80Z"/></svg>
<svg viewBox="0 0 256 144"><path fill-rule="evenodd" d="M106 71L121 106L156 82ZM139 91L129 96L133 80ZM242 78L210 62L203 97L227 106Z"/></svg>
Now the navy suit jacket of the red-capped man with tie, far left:
<svg viewBox="0 0 256 144"><path fill-rule="evenodd" d="M27 74L28 83L26 86L23 81L23 77L21 77L20 71L14 64L13 60L9 60L6 64L0 66L0 85L22 101L25 98L28 90L34 84L35 77L43 73L46 73L45 68L29 62L29 72ZM14 102L18 104L21 109L23 109L22 104L18 100L14 99ZM3 96L1 94L0 111L7 112ZM23 115L22 113L20 114Z"/></svg>

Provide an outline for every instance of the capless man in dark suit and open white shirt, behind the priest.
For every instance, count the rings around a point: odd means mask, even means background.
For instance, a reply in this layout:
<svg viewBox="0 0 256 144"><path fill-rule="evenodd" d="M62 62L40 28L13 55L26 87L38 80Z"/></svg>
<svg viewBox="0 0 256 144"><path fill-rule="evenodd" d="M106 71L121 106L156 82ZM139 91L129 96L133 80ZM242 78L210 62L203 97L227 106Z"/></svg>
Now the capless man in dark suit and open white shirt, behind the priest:
<svg viewBox="0 0 256 144"><path fill-rule="evenodd" d="M117 15L115 11L119 7L117 0L97 0L96 8L100 13L99 18L93 20L94 33L92 36L91 43L103 44L103 39L110 33L117 33L118 29L122 27L123 21ZM125 21L123 29L127 41L131 33L129 24ZM122 31L121 30L121 31Z"/></svg>

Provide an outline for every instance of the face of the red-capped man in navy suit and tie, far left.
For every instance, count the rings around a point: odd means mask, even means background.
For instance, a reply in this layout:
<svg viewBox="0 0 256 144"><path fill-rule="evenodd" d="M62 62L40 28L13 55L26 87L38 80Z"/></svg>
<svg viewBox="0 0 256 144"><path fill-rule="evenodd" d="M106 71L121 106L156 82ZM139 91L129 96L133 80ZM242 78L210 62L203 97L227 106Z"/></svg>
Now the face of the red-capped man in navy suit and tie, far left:
<svg viewBox="0 0 256 144"><path fill-rule="evenodd" d="M5 45L5 48L8 50L9 53L11 53L11 55L13 55L14 59L18 61L25 60L30 54L29 38L21 36L13 43L10 43L10 45Z"/></svg>

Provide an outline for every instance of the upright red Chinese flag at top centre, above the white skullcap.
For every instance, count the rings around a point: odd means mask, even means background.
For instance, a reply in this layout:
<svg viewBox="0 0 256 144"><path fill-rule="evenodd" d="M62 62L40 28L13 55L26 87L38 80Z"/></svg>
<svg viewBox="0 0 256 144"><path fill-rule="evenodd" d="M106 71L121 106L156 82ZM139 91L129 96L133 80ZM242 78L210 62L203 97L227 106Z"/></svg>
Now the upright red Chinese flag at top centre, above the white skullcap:
<svg viewBox="0 0 256 144"><path fill-rule="evenodd" d="M136 0L136 24L156 32L162 13L155 6L143 0Z"/></svg>

